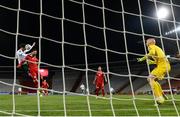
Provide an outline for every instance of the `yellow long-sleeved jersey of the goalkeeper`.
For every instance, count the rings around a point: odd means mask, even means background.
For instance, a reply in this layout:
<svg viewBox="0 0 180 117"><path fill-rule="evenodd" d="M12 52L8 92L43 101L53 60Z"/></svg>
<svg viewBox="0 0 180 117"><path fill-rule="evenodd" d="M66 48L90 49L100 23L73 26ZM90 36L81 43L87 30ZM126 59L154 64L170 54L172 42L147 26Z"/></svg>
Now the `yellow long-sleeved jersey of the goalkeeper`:
<svg viewBox="0 0 180 117"><path fill-rule="evenodd" d="M169 63L165 53L160 47L156 45L149 45L148 50L148 56L151 56L154 59L156 65L163 65Z"/></svg>

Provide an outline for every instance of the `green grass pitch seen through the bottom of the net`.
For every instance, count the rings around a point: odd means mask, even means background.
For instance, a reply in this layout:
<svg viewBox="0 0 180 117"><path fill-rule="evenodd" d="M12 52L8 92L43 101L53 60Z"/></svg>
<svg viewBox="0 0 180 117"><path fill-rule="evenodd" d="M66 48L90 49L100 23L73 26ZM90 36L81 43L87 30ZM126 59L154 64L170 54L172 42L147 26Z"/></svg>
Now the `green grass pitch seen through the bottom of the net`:
<svg viewBox="0 0 180 117"><path fill-rule="evenodd" d="M108 97L108 96L106 96ZM117 99L131 99L131 95L113 95ZM137 95L137 98L152 99L152 95ZM170 97L170 96L169 96ZM175 95L180 100L180 95ZM113 107L116 116L137 116L132 100L113 99ZM92 116L113 116L110 100L96 99L90 97L90 107ZM66 95L67 116L89 116L86 96ZM16 113L37 116L37 96L15 95ZM158 116L153 100L135 100L140 116ZM176 101L178 112L180 113L180 102ZM0 95L0 116L10 116L3 112L12 112L12 95ZM177 116L171 101L166 101L159 106L161 116ZM40 97L41 116L64 116L63 96L51 95Z"/></svg>

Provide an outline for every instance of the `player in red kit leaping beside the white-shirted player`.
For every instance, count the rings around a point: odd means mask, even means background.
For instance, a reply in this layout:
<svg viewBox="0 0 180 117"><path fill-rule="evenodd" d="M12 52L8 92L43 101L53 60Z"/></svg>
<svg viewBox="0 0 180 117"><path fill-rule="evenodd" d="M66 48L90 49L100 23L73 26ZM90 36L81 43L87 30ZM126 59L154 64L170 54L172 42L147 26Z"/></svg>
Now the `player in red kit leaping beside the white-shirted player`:
<svg viewBox="0 0 180 117"><path fill-rule="evenodd" d="M32 77L35 87L38 87L38 59L36 58L37 50L32 50L32 52L25 57L23 61L17 66L20 68L24 62L28 62L29 75Z"/></svg>

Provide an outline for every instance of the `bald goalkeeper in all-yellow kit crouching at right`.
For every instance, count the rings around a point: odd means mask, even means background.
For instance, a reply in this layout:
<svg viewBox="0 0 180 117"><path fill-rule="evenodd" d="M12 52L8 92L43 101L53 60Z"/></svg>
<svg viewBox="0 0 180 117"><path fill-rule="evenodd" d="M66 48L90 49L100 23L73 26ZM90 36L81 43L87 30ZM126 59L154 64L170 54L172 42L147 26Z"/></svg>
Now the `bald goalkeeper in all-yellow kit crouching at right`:
<svg viewBox="0 0 180 117"><path fill-rule="evenodd" d="M156 45L154 38L147 39L146 45L148 47L149 53L142 58L138 58L138 62L147 59L148 64L156 64L156 67L148 76L148 82L151 86L157 103L162 104L164 103L164 100L167 99L167 97L163 93L158 80L164 79L164 76L170 72L171 66L163 50Z"/></svg>

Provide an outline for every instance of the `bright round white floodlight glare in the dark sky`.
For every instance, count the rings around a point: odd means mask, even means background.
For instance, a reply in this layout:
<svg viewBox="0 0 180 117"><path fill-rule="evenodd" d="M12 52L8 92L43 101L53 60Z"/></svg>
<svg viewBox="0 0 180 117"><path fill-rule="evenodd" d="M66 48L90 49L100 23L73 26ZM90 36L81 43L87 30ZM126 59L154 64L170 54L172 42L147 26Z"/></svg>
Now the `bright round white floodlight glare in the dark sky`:
<svg viewBox="0 0 180 117"><path fill-rule="evenodd" d="M157 11L157 17L158 17L159 19L164 19L164 18L166 18L168 15L169 15L169 11L168 11L168 9L165 8L165 7L161 7L161 8L158 9L158 11Z"/></svg>

